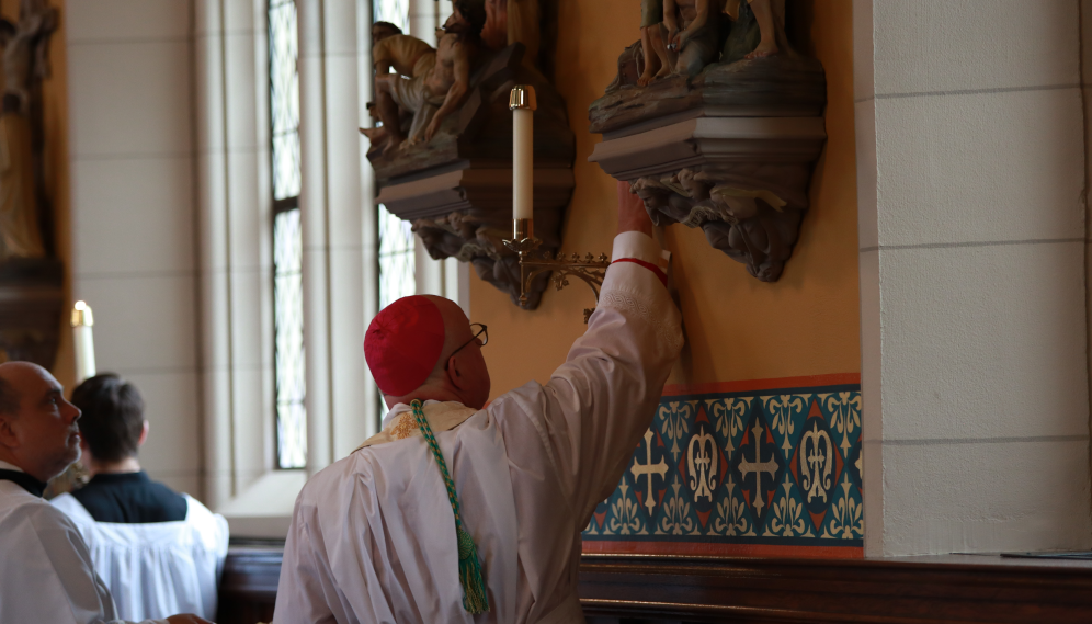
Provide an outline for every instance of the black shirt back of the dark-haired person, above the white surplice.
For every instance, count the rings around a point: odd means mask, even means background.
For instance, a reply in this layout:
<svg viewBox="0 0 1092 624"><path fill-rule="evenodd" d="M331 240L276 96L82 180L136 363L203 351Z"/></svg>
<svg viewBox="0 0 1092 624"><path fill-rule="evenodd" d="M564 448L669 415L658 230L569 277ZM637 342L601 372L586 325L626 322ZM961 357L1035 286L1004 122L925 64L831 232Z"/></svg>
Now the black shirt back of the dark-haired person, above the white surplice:
<svg viewBox="0 0 1092 624"><path fill-rule="evenodd" d="M139 473L102 473L72 492L96 522L140 524L185 520L185 497Z"/></svg>

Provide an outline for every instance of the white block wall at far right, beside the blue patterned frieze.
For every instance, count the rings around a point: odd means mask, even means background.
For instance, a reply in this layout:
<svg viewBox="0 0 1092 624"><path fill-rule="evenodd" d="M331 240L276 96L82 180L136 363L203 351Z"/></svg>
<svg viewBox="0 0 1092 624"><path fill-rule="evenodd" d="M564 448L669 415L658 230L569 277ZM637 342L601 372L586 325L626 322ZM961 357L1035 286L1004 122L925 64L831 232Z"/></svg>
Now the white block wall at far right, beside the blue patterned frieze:
<svg viewBox="0 0 1092 624"><path fill-rule="evenodd" d="M1079 3L853 11L866 554L1088 547Z"/></svg>

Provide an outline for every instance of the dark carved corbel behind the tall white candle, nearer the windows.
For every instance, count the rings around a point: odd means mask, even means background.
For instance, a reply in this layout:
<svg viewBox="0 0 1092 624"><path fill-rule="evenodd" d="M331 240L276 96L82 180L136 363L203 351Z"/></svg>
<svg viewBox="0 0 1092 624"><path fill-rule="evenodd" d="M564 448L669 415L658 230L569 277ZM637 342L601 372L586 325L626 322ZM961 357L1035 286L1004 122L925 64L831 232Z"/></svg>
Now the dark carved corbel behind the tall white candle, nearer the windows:
<svg viewBox="0 0 1092 624"><path fill-rule="evenodd" d="M372 149L379 185L376 202L413 224L429 256L469 262L484 281L520 305L520 259L501 242L512 235L512 112L517 83L537 92L535 111L535 236L544 251L560 246L561 218L572 195L576 138L565 102L548 80L521 63L515 43L482 59L471 73L470 94L441 133L395 156ZM537 276L527 309L538 306L549 274Z"/></svg>

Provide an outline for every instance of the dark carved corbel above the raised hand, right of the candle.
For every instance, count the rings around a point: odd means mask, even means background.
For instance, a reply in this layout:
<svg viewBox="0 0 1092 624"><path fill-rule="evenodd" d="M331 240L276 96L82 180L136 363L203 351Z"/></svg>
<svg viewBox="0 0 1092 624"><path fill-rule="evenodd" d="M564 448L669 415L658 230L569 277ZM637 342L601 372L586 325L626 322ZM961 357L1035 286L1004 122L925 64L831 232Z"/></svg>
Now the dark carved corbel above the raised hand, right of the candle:
<svg viewBox="0 0 1092 624"><path fill-rule="evenodd" d="M827 138L822 67L772 57L714 64L692 82L627 80L591 106L603 141L589 160L628 181L653 223L702 228L752 276L777 281Z"/></svg>

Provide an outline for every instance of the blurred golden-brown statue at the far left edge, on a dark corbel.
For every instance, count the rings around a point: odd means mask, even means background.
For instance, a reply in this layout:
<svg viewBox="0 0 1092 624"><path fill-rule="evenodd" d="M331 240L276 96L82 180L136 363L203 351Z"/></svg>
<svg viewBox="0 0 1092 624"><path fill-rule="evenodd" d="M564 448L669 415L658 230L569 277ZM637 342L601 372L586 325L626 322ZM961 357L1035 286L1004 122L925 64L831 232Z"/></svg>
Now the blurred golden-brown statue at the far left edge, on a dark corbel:
<svg viewBox="0 0 1092 624"><path fill-rule="evenodd" d="M18 23L0 20L3 47L3 104L0 111L0 261L43 258L35 184L31 104L48 77L49 35L57 27L56 9L43 0L23 0Z"/></svg>

